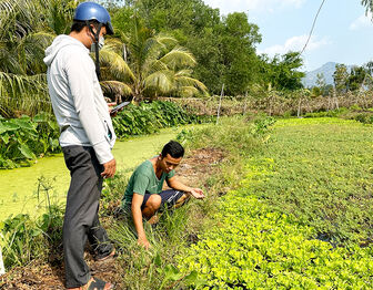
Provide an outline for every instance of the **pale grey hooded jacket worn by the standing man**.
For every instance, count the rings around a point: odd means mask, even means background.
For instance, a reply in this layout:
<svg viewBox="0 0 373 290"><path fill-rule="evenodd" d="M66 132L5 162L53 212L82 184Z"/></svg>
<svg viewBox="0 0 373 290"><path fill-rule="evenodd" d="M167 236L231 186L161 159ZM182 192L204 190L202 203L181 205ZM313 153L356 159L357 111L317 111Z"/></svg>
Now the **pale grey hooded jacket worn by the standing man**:
<svg viewBox="0 0 373 290"><path fill-rule="evenodd" d="M46 50L44 63L60 145L92 146L100 164L111 160L117 137L89 50L59 35Z"/></svg>

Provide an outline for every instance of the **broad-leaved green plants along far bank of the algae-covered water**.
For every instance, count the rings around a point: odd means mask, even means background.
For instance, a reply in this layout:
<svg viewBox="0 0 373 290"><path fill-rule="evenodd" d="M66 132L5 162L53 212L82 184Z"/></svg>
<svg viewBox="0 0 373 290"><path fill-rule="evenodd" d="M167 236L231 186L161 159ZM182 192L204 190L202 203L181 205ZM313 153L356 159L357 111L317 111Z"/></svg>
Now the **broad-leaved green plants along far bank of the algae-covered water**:
<svg viewBox="0 0 373 290"><path fill-rule="evenodd" d="M171 102L129 105L113 118L119 138L157 133L161 128L211 122L212 116L198 116ZM0 118L0 168L30 166L38 157L59 153L60 132L53 116Z"/></svg>

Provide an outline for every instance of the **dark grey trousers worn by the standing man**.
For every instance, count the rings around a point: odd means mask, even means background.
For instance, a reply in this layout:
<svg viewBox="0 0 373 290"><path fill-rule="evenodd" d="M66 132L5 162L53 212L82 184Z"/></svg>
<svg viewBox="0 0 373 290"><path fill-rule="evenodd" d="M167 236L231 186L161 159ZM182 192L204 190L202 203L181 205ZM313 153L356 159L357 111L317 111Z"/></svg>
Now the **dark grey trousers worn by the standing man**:
<svg viewBox="0 0 373 290"><path fill-rule="evenodd" d="M71 175L62 231L65 287L75 288L91 278L84 261L87 239L98 258L108 256L113 247L99 221L103 167L93 148L67 146L62 152Z"/></svg>

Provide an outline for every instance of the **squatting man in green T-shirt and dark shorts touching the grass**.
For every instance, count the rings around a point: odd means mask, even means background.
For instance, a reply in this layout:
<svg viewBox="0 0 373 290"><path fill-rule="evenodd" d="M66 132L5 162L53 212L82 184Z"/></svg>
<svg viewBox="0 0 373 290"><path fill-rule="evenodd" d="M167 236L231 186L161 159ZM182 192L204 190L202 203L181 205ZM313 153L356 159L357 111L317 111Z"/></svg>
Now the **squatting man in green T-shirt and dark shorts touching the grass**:
<svg viewBox="0 0 373 290"><path fill-rule="evenodd" d="M132 216L138 244L145 249L150 244L143 228L143 218L152 222L152 217L158 210L180 206L189 200L190 196L204 198L202 189L189 187L174 176L174 169L183 156L184 148L178 142L170 141L159 156L143 162L129 180L121 208L124 214ZM171 189L162 190L164 182Z"/></svg>

